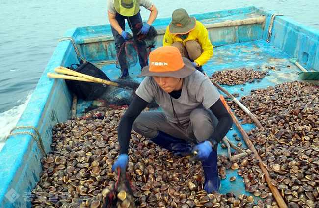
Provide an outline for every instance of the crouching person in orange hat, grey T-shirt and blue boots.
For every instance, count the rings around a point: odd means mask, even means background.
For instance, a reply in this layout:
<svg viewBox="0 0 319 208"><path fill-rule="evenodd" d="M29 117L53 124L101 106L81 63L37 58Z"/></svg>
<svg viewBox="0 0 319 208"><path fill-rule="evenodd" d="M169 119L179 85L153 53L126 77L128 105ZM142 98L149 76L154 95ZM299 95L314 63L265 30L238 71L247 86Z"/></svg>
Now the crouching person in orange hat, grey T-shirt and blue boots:
<svg viewBox="0 0 319 208"><path fill-rule="evenodd" d="M133 128L174 155L196 150L205 173L204 189L219 191L217 144L232 126L219 92L175 47L157 48L149 58L150 66L139 75L146 78L119 124L120 155L113 170L126 170ZM142 112L153 99L162 112Z"/></svg>

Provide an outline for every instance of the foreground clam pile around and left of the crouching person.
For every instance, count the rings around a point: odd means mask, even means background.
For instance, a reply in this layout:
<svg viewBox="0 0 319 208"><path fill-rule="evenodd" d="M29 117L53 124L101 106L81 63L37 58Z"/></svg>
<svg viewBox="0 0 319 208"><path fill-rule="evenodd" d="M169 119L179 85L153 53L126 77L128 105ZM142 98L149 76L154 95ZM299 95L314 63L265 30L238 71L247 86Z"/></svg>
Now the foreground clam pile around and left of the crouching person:
<svg viewBox="0 0 319 208"><path fill-rule="evenodd" d="M52 150L41 160L43 172L32 191L33 208L103 207L118 179L111 168L119 152L117 127L125 109L101 108L54 126ZM129 158L133 196L117 187L118 208L265 206L251 196L206 193L200 162L173 156L134 131ZM239 168L225 156L219 157L218 166L222 178L226 168Z"/></svg>

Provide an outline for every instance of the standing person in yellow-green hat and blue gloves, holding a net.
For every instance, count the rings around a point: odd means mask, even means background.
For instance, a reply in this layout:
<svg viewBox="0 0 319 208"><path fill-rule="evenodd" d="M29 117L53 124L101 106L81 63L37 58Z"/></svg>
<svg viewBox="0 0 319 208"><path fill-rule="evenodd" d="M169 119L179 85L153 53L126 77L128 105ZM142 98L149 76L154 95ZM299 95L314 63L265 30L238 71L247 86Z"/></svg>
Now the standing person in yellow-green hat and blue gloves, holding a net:
<svg viewBox="0 0 319 208"><path fill-rule="evenodd" d="M150 17L144 24L142 23L140 6L151 11ZM107 11L112 34L114 36L118 62L121 66L121 75L119 76L119 79L128 78L129 68L126 63L125 50L121 50L120 52L122 44L125 41L132 39L132 35L125 31L125 20L128 21L128 25L134 37L136 37L139 32L146 35L158 15L158 10L150 0L108 0ZM143 26L140 29L141 24L143 24ZM148 65L145 42L136 41L136 43L139 63L143 68Z"/></svg>

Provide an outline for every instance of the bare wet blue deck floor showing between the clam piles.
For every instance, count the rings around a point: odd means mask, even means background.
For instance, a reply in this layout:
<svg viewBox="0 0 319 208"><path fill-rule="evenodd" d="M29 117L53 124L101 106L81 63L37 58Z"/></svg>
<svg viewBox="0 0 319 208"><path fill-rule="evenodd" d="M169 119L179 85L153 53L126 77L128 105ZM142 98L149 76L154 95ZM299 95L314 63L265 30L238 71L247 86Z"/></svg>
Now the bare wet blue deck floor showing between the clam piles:
<svg viewBox="0 0 319 208"><path fill-rule="evenodd" d="M300 80L298 73L300 70L293 64L289 62L289 57L284 52L281 52L277 48L271 46L265 40L258 40L253 42L230 44L221 47L214 48L213 57L210 61L203 67L204 71L211 77L215 71L221 71L226 69L240 70L240 68L253 69L253 70L267 70L265 67L273 66L276 69L280 68L280 71L269 70L270 75L263 78L260 82L247 83L246 85L235 85L235 86L225 86L229 93L239 93L239 98L244 95L249 95L252 89L257 88L267 88L268 86L275 86L276 84L283 83L286 81ZM287 67L289 65L290 67ZM260 66L260 69L257 69ZM117 79L120 73L119 69L116 69L114 64L109 64L105 66L98 66L101 68L106 75L114 80ZM130 75L133 79L141 81L142 78L137 78L136 76L140 72L140 66L136 65L130 69ZM244 88L243 91L240 88ZM80 103L78 106L83 107L87 105ZM253 124L245 124L243 128L247 131L254 128ZM227 137L234 143L237 144L239 141L235 140L232 135L237 133L241 138L244 148L247 148L242 137L240 136L239 130L236 128L235 124L233 129L227 134ZM222 149L218 147L218 154L227 155L227 149ZM227 170L227 178L221 180L221 193L232 192L235 195L248 194L245 191L244 183L242 178L237 175L237 171ZM229 179L232 176L236 176L237 180L230 182Z"/></svg>

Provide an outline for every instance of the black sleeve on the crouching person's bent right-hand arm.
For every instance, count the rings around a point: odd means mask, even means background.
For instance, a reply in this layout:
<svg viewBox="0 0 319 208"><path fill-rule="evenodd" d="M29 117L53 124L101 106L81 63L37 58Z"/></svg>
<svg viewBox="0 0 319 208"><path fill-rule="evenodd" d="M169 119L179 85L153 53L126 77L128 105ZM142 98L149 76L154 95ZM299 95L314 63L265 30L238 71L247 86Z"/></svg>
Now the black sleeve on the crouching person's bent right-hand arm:
<svg viewBox="0 0 319 208"><path fill-rule="evenodd" d="M213 143L213 140L220 142L227 134L229 129L233 125L233 120L230 114L228 113L226 107L220 99L213 104L210 109L213 114L218 119L218 124L213 132L213 135L210 137L209 141Z"/></svg>

